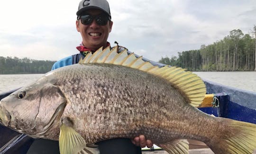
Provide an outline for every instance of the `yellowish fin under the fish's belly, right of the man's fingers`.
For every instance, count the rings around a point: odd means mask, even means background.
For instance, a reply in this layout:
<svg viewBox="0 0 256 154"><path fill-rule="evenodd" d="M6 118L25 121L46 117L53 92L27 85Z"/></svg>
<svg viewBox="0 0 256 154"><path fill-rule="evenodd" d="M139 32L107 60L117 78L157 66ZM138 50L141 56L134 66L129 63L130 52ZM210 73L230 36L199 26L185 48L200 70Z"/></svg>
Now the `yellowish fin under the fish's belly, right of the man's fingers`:
<svg viewBox="0 0 256 154"><path fill-rule="evenodd" d="M175 139L166 144L157 144L169 154L188 154L189 142L186 139Z"/></svg>

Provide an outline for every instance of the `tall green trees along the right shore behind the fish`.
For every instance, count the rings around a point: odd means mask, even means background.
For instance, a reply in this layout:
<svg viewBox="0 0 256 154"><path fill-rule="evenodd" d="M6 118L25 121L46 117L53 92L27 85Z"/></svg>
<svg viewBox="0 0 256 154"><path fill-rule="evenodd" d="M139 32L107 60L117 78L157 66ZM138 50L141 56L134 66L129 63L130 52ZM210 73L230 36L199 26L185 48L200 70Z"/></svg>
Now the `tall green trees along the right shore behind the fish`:
<svg viewBox="0 0 256 154"><path fill-rule="evenodd" d="M234 29L213 44L179 52L178 57L162 57L159 62L190 71L256 71L256 26L251 35Z"/></svg>

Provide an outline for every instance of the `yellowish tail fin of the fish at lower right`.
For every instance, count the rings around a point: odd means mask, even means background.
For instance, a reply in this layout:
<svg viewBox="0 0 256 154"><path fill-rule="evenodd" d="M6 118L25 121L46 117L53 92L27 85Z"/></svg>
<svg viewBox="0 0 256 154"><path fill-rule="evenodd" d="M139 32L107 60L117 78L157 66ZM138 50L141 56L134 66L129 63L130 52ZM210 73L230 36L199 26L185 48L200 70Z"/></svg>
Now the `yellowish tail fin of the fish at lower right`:
<svg viewBox="0 0 256 154"><path fill-rule="evenodd" d="M221 118L221 133L216 132L206 145L215 154L252 154L256 149L256 125ZM221 127L221 126L220 126Z"/></svg>

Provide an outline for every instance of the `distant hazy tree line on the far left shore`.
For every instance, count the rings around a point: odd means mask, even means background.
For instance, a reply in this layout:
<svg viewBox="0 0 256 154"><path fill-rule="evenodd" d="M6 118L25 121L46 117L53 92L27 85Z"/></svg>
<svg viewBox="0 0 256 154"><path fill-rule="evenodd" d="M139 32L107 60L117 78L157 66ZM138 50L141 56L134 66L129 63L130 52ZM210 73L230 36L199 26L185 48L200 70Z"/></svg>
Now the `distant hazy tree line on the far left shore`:
<svg viewBox="0 0 256 154"><path fill-rule="evenodd" d="M0 56L0 74L40 74L51 71L55 61Z"/></svg>

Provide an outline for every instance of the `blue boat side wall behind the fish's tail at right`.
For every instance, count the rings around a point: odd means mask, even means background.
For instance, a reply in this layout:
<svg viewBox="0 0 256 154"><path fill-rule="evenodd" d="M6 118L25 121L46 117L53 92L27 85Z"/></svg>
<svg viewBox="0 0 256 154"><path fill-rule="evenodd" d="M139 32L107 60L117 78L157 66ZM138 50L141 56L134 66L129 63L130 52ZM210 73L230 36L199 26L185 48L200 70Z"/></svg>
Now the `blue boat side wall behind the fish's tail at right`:
<svg viewBox="0 0 256 154"><path fill-rule="evenodd" d="M214 93L218 108L199 108L216 117L230 118L256 124L256 93L204 81L207 93Z"/></svg>

